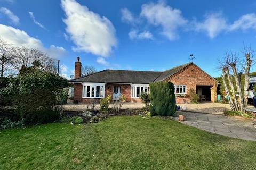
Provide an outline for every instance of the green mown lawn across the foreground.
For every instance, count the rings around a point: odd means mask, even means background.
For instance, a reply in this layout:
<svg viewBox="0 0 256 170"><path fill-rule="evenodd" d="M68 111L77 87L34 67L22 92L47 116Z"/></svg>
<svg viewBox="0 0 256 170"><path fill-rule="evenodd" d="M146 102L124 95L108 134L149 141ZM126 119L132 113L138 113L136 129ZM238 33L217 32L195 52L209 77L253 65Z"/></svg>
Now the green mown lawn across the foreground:
<svg viewBox="0 0 256 170"><path fill-rule="evenodd" d="M172 120L116 116L0 131L0 169L253 169L256 142Z"/></svg>

